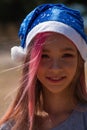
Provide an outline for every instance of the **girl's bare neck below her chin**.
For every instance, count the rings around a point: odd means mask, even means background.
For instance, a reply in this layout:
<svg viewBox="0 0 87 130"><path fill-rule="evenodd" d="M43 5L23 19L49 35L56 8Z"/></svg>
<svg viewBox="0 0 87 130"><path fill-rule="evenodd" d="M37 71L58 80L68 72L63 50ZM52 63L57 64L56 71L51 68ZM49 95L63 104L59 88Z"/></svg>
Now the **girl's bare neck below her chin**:
<svg viewBox="0 0 87 130"><path fill-rule="evenodd" d="M64 91L62 93L51 93L43 91L44 110L49 114L59 114L70 112L75 108L75 100L72 91Z"/></svg>

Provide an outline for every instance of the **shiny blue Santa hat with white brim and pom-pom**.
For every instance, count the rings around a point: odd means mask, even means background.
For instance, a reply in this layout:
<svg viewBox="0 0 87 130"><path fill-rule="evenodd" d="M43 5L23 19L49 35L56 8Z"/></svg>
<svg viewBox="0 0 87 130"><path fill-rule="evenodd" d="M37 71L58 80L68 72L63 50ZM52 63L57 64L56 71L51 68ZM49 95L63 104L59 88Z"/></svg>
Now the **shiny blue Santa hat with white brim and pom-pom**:
<svg viewBox="0 0 87 130"><path fill-rule="evenodd" d="M21 61L26 56L30 41L41 32L57 32L69 38L87 60L87 37L80 12L63 4L42 4L23 20L20 30L20 46L11 49L12 59Z"/></svg>

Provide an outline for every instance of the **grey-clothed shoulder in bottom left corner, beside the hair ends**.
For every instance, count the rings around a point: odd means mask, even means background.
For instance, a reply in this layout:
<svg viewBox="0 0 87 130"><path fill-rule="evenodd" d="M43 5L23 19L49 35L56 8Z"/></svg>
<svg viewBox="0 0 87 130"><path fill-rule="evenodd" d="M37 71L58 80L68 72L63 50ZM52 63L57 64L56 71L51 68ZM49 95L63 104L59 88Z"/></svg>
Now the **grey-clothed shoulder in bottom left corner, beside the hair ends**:
<svg viewBox="0 0 87 130"><path fill-rule="evenodd" d="M0 130L11 130L14 125L13 120L6 121L4 124L0 126Z"/></svg>

